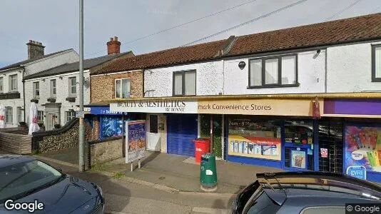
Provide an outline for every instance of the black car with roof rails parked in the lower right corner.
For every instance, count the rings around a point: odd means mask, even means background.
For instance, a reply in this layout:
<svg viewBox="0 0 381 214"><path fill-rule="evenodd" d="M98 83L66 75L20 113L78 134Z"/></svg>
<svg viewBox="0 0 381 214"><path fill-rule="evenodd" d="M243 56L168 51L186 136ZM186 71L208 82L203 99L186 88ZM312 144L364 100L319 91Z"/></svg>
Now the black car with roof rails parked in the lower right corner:
<svg viewBox="0 0 381 214"><path fill-rule="evenodd" d="M345 213L346 203L381 203L381 186L338 173L257 174L232 213Z"/></svg>

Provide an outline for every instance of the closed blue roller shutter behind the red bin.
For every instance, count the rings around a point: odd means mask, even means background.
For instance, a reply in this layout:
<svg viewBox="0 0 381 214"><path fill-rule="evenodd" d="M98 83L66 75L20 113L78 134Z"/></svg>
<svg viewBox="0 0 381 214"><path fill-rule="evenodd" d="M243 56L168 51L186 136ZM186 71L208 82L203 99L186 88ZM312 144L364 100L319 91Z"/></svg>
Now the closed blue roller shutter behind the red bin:
<svg viewBox="0 0 381 214"><path fill-rule="evenodd" d="M167 117L167 151L181 156L195 156L197 114L170 114Z"/></svg>

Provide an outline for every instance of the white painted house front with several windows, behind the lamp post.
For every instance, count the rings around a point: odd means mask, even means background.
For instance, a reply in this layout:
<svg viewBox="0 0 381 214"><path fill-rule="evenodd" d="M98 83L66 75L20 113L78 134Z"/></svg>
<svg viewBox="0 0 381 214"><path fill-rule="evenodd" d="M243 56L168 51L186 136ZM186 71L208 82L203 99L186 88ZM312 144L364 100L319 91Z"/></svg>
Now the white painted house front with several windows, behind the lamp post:
<svg viewBox="0 0 381 214"><path fill-rule="evenodd" d="M76 94L76 101L75 102L69 102L66 101L66 98L69 96L69 81L68 79L76 76L77 80L77 94ZM90 72L88 70L83 71L84 78L90 77ZM60 78L62 77L62 79ZM45 81L42 81L42 79L45 79ZM79 105L79 73L78 71L73 73L64 73L57 76L48 76L43 78L34 78L31 80L25 81L25 102L26 102L26 116L29 116L29 107L31 106L31 99L34 98L33 96L33 83L36 81L39 81L40 83L40 96L39 96L39 103L37 103L37 108L39 111L44 111L44 106L41 106L44 103L49 103L47 101L48 98L51 97L50 93L50 81L52 79L56 79L56 103L61 103L61 126L64 126L66 123L66 116L65 111L68 111L69 109L73 109L76 111L77 105ZM87 105L90 102L90 84L88 87L83 86L83 104ZM27 121L29 123L29 118L27 118ZM47 126L47 124L45 124Z"/></svg>

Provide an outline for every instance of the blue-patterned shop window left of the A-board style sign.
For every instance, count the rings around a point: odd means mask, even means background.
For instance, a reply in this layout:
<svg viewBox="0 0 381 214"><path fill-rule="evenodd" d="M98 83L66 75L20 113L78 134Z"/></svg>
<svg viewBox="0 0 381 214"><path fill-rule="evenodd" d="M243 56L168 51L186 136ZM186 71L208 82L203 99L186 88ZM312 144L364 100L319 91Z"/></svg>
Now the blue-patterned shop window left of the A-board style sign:
<svg viewBox="0 0 381 214"><path fill-rule="evenodd" d="M101 116L100 118L101 139L122 136L123 121L121 116Z"/></svg>

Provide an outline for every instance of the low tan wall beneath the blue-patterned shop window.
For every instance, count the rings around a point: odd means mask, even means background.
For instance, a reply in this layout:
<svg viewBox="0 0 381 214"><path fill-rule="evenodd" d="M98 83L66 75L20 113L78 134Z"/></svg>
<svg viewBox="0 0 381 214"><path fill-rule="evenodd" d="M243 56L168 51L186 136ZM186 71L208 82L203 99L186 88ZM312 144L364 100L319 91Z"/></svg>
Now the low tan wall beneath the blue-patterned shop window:
<svg viewBox="0 0 381 214"><path fill-rule="evenodd" d="M123 158L122 138L108 138L103 141L89 142L90 163L106 163L118 158Z"/></svg>

